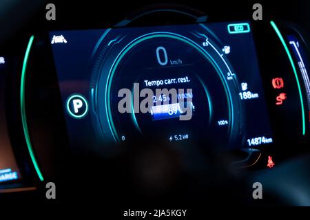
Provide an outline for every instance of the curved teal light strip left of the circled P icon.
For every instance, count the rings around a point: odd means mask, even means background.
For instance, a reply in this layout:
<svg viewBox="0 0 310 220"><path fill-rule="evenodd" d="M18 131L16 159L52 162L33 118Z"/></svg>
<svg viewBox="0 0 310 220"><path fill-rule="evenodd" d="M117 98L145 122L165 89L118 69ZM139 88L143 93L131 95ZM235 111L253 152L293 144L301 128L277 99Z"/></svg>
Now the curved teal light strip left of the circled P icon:
<svg viewBox="0 0 310 220"><path fill-rule="evenodd" d="M35 170L37 171L37 175L41 181L44 180L41 170L38 166L37 159L34 156L34 151L32 149L32 144L30 140L30 135L28 131L26 113L25 113L25 74L27 69L28 58L30 54L30 49L34 40L34 36L32 35L29 39L27 50L25 52L25 56L23 58L23 69L21 71L21 122L23 124L23 133L25 135L25 141L28 147L28 151L30 154L30 158L32 160L32 164L34 165Z"/></svg>

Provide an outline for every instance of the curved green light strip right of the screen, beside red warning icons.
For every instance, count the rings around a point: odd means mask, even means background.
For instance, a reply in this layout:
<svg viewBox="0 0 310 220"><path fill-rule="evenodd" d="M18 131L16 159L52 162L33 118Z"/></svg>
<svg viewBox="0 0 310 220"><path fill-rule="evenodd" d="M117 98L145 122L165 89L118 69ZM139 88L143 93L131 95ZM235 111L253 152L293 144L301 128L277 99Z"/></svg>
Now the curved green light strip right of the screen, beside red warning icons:
<svg viewBox="0 0 310 220"><path fill-rule="evenodd" d="M294 75L296 78L296 82L297 82L297 86L298 86L298 92L299 92L299 96L300 96L300 104L301 104L301 109L302 109L302 135L306 135L306 119L304 117L304 100L302 99L302 91L301 91L298 75L296 72L296 67L295 67L295 64L293 62L293 58L291 57L291 53L289 52L289 48L287 47L287 44L285 43L285 40L283 39L283 36L282 36L280 30L278 29L276 23L274 23L273 21L270 21L270 24L271 24L272 28L275 30L276 34L278 35L283 47L285 48L285 52L287 52L287 57L289 58L289 62L291 63L291 67L293 69L293 72L294 72Z"/></svg>

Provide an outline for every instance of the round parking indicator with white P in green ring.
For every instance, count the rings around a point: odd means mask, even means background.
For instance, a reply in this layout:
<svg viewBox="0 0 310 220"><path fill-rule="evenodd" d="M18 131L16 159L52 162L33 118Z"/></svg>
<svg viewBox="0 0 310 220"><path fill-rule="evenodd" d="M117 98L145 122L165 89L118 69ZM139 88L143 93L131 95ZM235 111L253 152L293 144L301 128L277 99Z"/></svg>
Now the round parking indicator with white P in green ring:
<svg viewBox="0 0 310 220"><path fill-rule="evenodd" d="M80 94L72 94L67 99L66 107L72 118L81 119L88 113L88 102L86 98Z"/></svg>

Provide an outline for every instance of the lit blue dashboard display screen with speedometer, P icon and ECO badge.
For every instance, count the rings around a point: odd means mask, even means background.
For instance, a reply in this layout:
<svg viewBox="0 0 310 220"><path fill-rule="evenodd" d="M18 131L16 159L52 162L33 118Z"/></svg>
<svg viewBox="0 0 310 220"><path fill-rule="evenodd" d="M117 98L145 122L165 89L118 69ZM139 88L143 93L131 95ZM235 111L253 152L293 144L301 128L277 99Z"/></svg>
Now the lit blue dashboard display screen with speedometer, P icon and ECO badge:
<svg viewBox="0 0 310 220"><path fill-rule="evenodd" d="M70 142L272 142L249 22L50 32Z"/></svg>

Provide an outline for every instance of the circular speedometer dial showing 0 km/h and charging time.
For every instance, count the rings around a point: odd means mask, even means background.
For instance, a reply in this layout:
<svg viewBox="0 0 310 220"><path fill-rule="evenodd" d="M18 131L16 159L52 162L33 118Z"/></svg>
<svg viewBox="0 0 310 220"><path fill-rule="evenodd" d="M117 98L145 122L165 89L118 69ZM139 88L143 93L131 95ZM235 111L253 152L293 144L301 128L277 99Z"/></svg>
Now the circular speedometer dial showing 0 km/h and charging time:
<svg viewBox="0 0 310 220"><path fill-rule="evenodd" d="M105 33L92 89L103 135L115 142L236 144L242 108L233 68L207 33L160 29Z"/></svg>

